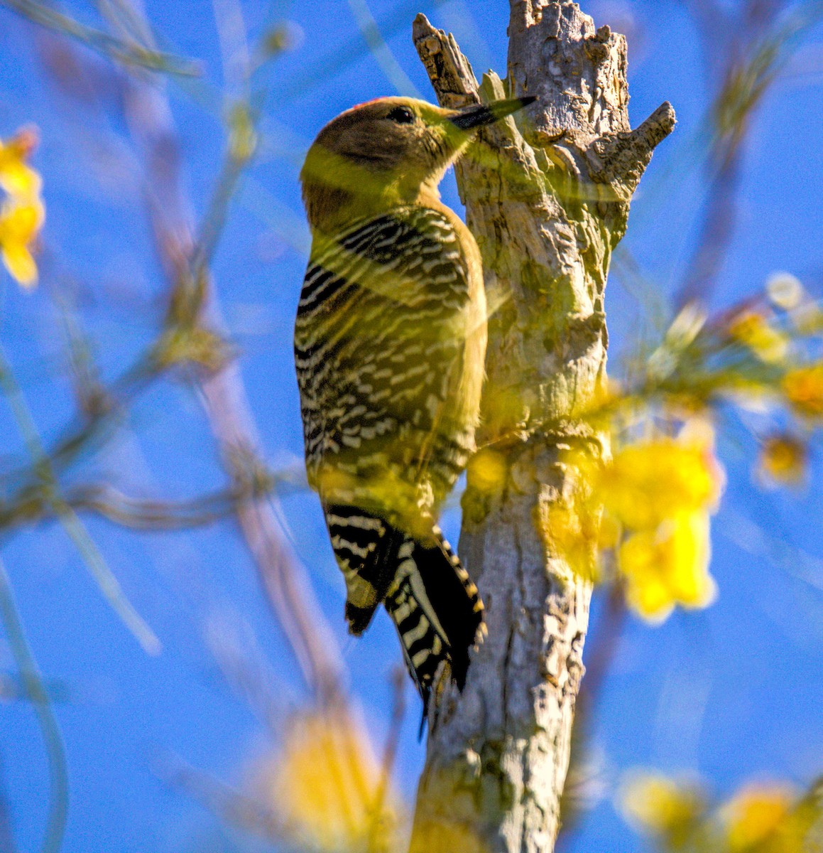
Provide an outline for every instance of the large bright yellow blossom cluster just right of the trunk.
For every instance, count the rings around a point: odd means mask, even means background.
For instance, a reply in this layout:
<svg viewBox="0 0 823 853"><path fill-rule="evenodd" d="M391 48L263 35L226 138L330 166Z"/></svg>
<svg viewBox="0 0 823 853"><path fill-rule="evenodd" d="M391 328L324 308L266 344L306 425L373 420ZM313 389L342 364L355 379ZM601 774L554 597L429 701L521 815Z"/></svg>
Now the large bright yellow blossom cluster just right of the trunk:
<svg viewBox="0 0 823 853"><path fill-rule="evenodd" d="M573 569L592 577L596 552L615 548L626 602L642 618L708 606L717 594L709 516L723 486L711 427L694 419L676 438L627 444L610 461L570 461L584 496L550 508L546 528Z"/></svg>

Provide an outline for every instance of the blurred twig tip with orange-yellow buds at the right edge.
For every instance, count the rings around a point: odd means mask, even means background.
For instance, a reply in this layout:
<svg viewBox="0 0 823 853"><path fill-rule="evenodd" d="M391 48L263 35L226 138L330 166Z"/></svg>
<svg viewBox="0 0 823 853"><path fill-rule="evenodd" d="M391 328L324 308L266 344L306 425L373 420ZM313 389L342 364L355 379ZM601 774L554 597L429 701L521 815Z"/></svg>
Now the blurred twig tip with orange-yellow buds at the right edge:
<svg viewBox="0 0 823 853"><path fill-rule="evenodd" d="M638 360L624 400L681 413L734 403L747 413L760 444L757 479L803 485L809 442L823 423L821 337L820 300L796 276L778 272L764 293L720 316L709 318L695 305L683 308L659 348ZM763 417L771 422L761 432Z"/></svg>

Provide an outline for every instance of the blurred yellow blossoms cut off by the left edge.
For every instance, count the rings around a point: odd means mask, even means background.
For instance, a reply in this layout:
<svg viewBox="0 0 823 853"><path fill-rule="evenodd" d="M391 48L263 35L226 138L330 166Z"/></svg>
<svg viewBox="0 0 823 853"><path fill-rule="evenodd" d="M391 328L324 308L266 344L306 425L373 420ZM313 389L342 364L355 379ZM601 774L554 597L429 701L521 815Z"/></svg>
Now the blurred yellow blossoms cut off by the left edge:
<svg viewBox="0 0 823 853"><path fill-rule="evenodd" d="M23 287L37 283L32 245L45 219L42 182L26 162L36 145L37 135L30 129L0 140L0 187L5 193L0 204L0 258Z"/></svg>

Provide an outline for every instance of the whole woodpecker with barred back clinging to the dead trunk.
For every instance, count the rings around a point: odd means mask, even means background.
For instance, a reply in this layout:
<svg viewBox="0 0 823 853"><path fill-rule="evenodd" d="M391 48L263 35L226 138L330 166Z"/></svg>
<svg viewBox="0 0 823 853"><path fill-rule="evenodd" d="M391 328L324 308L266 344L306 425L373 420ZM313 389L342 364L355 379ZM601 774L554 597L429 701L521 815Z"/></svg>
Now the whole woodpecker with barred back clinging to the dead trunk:
<svg viewBox="0 0 823 853"><path fill-rule="evenodd" d="M301 172L312 249L295 360L308 483L346 579L348 628L360 635L383 601L424 715L435 677L463 688L485 628L437 526L474 448L486 354L480 252L437 186L476 128L533 100L360 104L325 125Z"/></svg>

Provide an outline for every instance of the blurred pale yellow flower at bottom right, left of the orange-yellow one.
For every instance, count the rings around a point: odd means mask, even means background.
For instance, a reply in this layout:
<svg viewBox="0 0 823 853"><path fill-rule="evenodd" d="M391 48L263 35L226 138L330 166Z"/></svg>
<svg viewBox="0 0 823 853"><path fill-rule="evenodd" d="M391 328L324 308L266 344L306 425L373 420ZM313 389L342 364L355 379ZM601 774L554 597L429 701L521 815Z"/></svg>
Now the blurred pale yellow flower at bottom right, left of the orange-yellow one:
<svg viewBox="0 0 823 853"><path fill-rule="evenodd" d="M620 808L637 829L676 839L699 821L704 803L694 786L668 776L635 771L623 782Z"/></svg>

